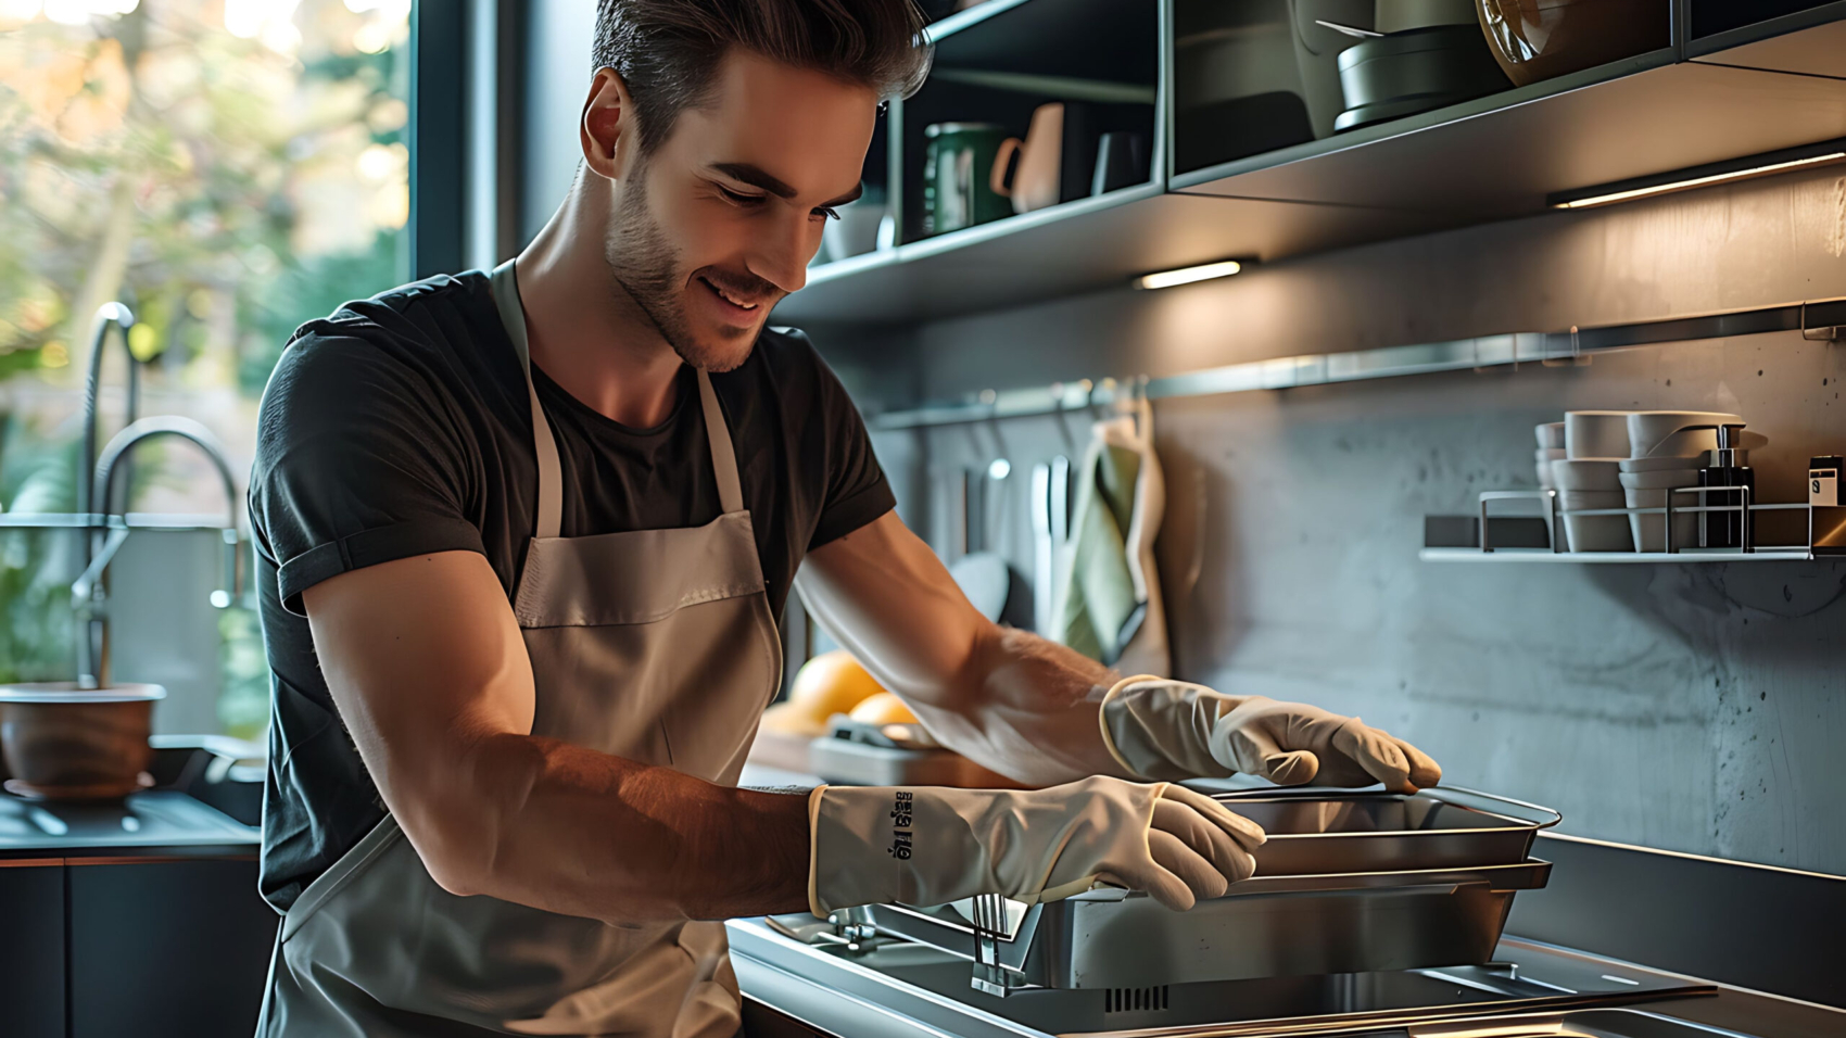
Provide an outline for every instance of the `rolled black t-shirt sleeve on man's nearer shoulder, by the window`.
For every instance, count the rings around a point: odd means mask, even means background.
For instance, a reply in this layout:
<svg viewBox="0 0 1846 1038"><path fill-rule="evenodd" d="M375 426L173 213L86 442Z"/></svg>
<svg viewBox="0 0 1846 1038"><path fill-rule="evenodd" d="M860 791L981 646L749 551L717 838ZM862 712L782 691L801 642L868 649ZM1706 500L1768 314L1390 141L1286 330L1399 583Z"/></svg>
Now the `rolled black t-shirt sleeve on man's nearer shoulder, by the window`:
<svg viewBox="0 0 1846 1038"><path fill-rule="evenodd" d="M484 552L467 519L463 425L428 373L360 338L310 332L284 351L257 419L249 512L282 606L353 569Z"/></svg>

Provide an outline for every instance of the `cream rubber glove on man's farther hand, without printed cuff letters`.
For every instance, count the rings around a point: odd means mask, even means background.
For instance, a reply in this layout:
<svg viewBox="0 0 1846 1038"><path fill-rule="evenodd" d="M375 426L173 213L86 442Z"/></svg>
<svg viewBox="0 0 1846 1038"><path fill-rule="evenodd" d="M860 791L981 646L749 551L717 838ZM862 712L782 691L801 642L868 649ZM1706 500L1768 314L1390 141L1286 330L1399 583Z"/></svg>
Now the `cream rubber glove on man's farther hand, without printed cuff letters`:
<svg viewBox="0 0 1846 1038"><path fill-rule="evenodd" d="M1427 754L1357 717L1268 696L1228 696L1167 678L1126 678L1102 698L1102 741L1150 779L1224 778L1277 785L1372 785L1416 792L1442 781Z"/></svg>

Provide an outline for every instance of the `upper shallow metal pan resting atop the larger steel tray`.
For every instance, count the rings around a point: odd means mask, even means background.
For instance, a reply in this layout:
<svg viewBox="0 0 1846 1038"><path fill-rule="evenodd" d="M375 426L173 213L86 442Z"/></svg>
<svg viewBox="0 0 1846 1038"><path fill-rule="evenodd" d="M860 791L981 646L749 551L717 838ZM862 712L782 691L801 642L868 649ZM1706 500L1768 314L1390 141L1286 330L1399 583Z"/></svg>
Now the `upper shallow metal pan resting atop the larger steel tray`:
<svg viewBox="0 0 1846 1038"><path fill-rule="evenodd" d="M1416 794L1263 789L1213 800L1263 826L1257 875L1325 875L1517 864L1564 816L1468 789Z"/></svg>

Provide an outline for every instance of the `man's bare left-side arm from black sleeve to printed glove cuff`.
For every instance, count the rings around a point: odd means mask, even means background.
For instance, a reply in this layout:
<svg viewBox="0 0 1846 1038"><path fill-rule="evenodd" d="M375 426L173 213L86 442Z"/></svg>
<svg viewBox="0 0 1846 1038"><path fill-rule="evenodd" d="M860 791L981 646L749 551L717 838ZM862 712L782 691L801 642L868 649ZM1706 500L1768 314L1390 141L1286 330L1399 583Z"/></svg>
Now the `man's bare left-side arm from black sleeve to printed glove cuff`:
<svg viewBox="0 0 1846 1038"><path fill-rule="evenodd" d="M303 598L340 717L443 888L624 922L807 909L805 796L532 735L532 665L485 558L380 563Z"/></svg>

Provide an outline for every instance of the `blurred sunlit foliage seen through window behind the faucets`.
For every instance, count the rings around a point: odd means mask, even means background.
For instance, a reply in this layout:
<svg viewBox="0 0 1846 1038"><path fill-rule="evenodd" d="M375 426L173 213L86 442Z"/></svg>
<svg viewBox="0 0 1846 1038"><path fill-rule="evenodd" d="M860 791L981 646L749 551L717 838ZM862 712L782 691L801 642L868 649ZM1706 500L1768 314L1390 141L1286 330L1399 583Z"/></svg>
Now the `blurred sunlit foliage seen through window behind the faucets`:
<svg viewBox="0 0 1846 1038"><path fill-rule="evenodd" d="M0 508L74 508L89 327L111 299L137 318L140 412L203 421L249 471L288 334L408 275L410 7L0 0ZM103 440L122 364L103 366ZM190 447L137 458L138 512L223 510ZM72 676L74 547L0 532L0 682ZM253 737L270 693L247 598L220 617L218 715Z"/></svg>

